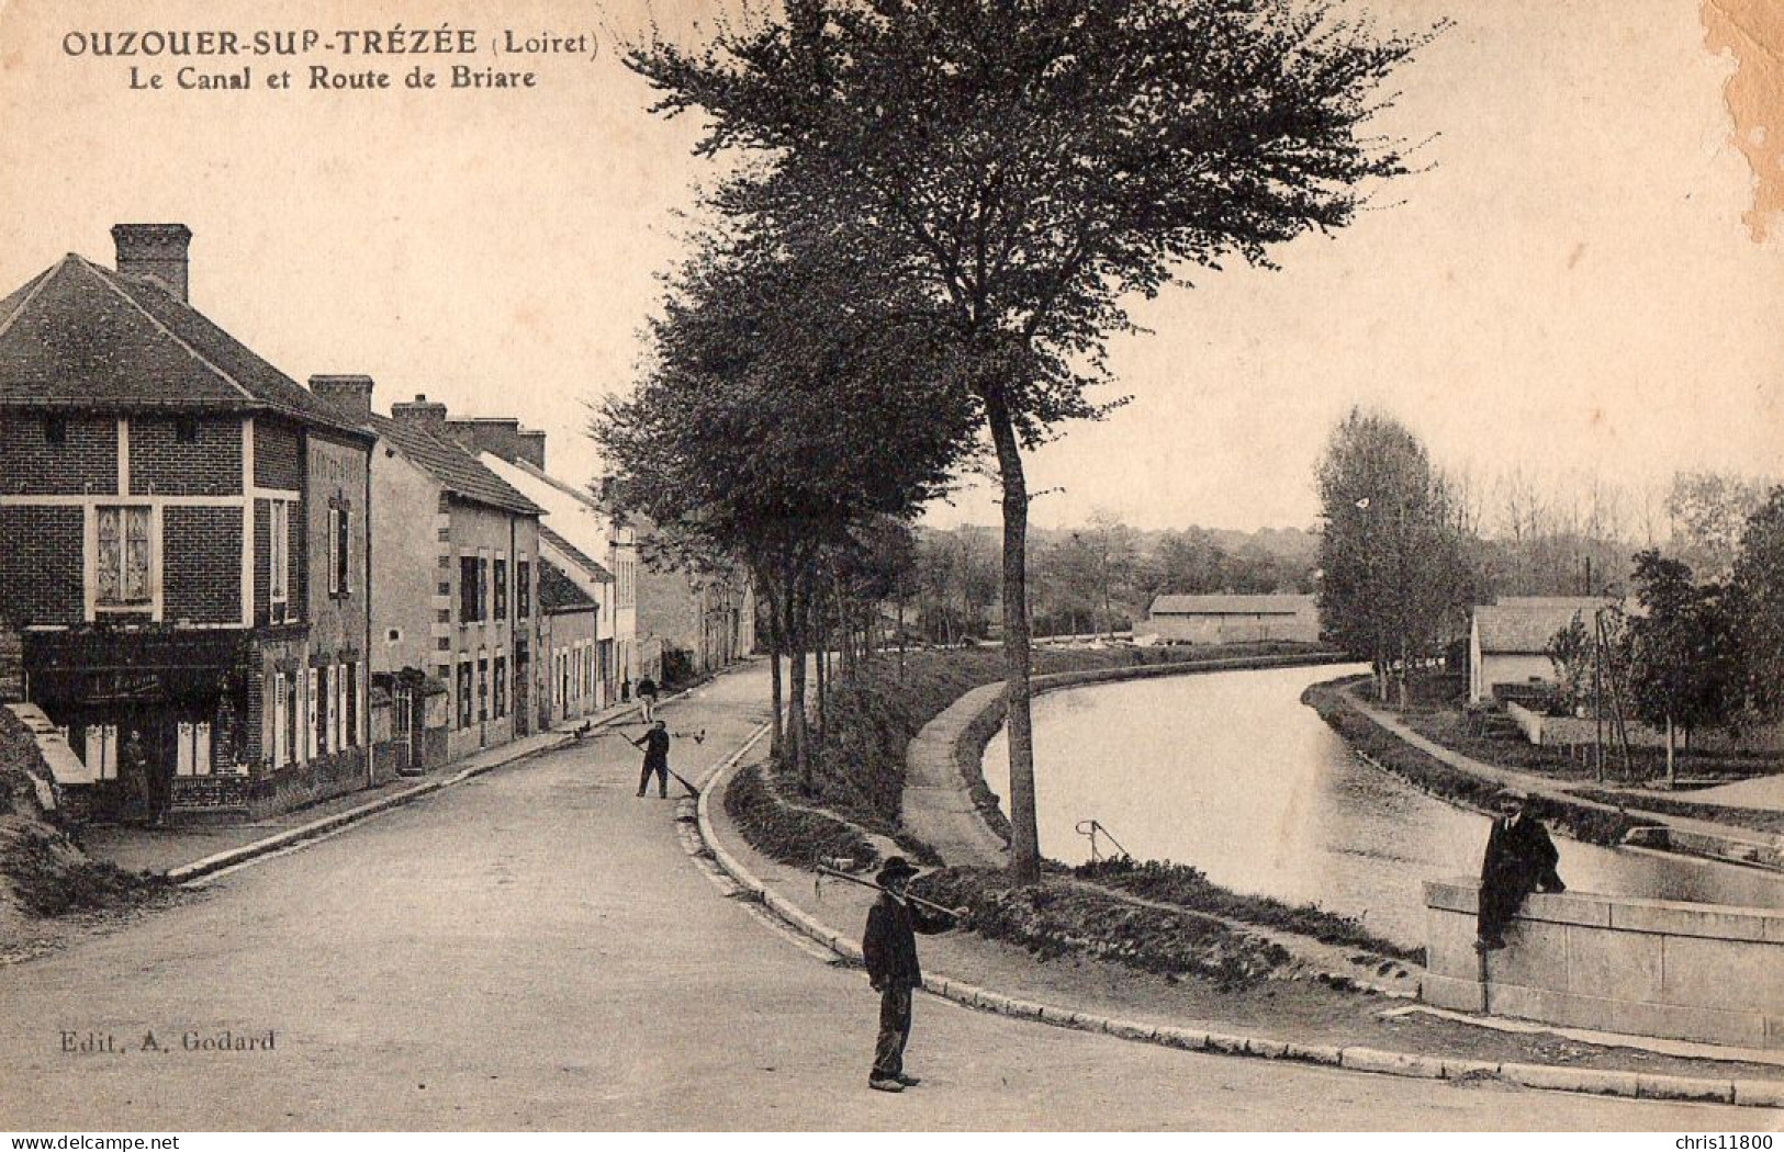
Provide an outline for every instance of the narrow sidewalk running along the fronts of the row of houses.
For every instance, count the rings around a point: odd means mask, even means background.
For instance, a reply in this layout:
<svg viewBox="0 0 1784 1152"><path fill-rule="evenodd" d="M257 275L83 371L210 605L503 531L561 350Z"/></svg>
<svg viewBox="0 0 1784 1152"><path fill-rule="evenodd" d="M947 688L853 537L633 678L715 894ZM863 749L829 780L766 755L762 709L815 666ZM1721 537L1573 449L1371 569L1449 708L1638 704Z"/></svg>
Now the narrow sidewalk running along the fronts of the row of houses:
<svg viewBox="0 0 1784 1152"><path fill-rule="evenodd" d="M674 697L667 697L674 699ZM664 703L667 703L667 699ZM105 824L82 829L80 847L95 860L105 860L130 872L175 872L175 879L191 879L202 872L223 868L235 860L277 851L287 843L318 836L335 827L430 795L471 776L551 751L574 736L578 728L612 726L637 715L639 704L626 701L574 720L566 720L551 731L535 733L508 744L480 749L469 756L441 765L425 776L401 776L376 788L360 788L316 804L293 808L264 820L243 824L193 824L171 827L137 827ZM194 865L209 865L198 867Z"/></svg>

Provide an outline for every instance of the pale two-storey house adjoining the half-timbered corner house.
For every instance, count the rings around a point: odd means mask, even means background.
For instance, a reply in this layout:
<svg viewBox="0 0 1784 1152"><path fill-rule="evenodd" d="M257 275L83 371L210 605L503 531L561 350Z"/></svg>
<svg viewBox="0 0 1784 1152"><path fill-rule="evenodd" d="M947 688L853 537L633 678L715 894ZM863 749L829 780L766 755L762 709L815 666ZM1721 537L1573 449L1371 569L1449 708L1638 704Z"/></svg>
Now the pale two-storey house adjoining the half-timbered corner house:
<svg viewBox="0 0 1784 1152"><path fill-rule="evenodd" d="M371 410L369 376L312 376L378 437L371 455L371 669L410 770L537 729L541 508L446 433L446 405Z"/></svg>

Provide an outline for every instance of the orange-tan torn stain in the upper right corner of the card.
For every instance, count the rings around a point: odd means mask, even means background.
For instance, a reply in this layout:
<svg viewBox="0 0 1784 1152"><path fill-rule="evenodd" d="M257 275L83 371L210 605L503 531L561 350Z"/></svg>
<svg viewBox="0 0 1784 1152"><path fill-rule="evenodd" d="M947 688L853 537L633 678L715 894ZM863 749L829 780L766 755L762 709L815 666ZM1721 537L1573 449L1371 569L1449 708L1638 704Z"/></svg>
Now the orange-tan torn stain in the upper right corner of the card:
<svg viewBox="0 0 1784 1152"><path fill-rule="evenodd" d="M1764 241L1784 212L1784 5L1777 0L1704 0L1704 46L1732 52L1723 87L1734 144L1754 169L1747 230Z"/></svg>

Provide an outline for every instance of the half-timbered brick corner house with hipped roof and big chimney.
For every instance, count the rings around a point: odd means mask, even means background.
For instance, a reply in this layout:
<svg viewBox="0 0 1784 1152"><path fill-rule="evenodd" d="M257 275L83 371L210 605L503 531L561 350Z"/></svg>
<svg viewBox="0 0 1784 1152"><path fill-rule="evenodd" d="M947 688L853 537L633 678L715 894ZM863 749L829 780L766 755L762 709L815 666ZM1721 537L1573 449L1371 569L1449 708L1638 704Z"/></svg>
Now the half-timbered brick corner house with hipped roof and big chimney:
<svg viewBox="0 0 1784 1152"><path fill-rule="evenodd" d="M184 225L0 301L0 617L100 817L260 815L373 783L373 439L187 303Z"/></svg>

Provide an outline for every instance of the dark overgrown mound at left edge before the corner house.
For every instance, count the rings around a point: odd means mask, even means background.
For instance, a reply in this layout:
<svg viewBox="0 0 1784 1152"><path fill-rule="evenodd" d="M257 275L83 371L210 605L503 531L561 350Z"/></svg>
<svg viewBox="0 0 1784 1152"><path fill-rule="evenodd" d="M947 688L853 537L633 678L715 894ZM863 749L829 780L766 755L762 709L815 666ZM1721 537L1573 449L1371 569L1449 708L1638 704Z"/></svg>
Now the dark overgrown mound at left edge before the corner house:
<svg viewBox="0 0 1784 1152"><path fill-rule="evenodd" d="M50 770L18 717L0 708L0 943L16 943L21 917L116 908L164 886L87 860L39 808L32 776Z"/></svg>

